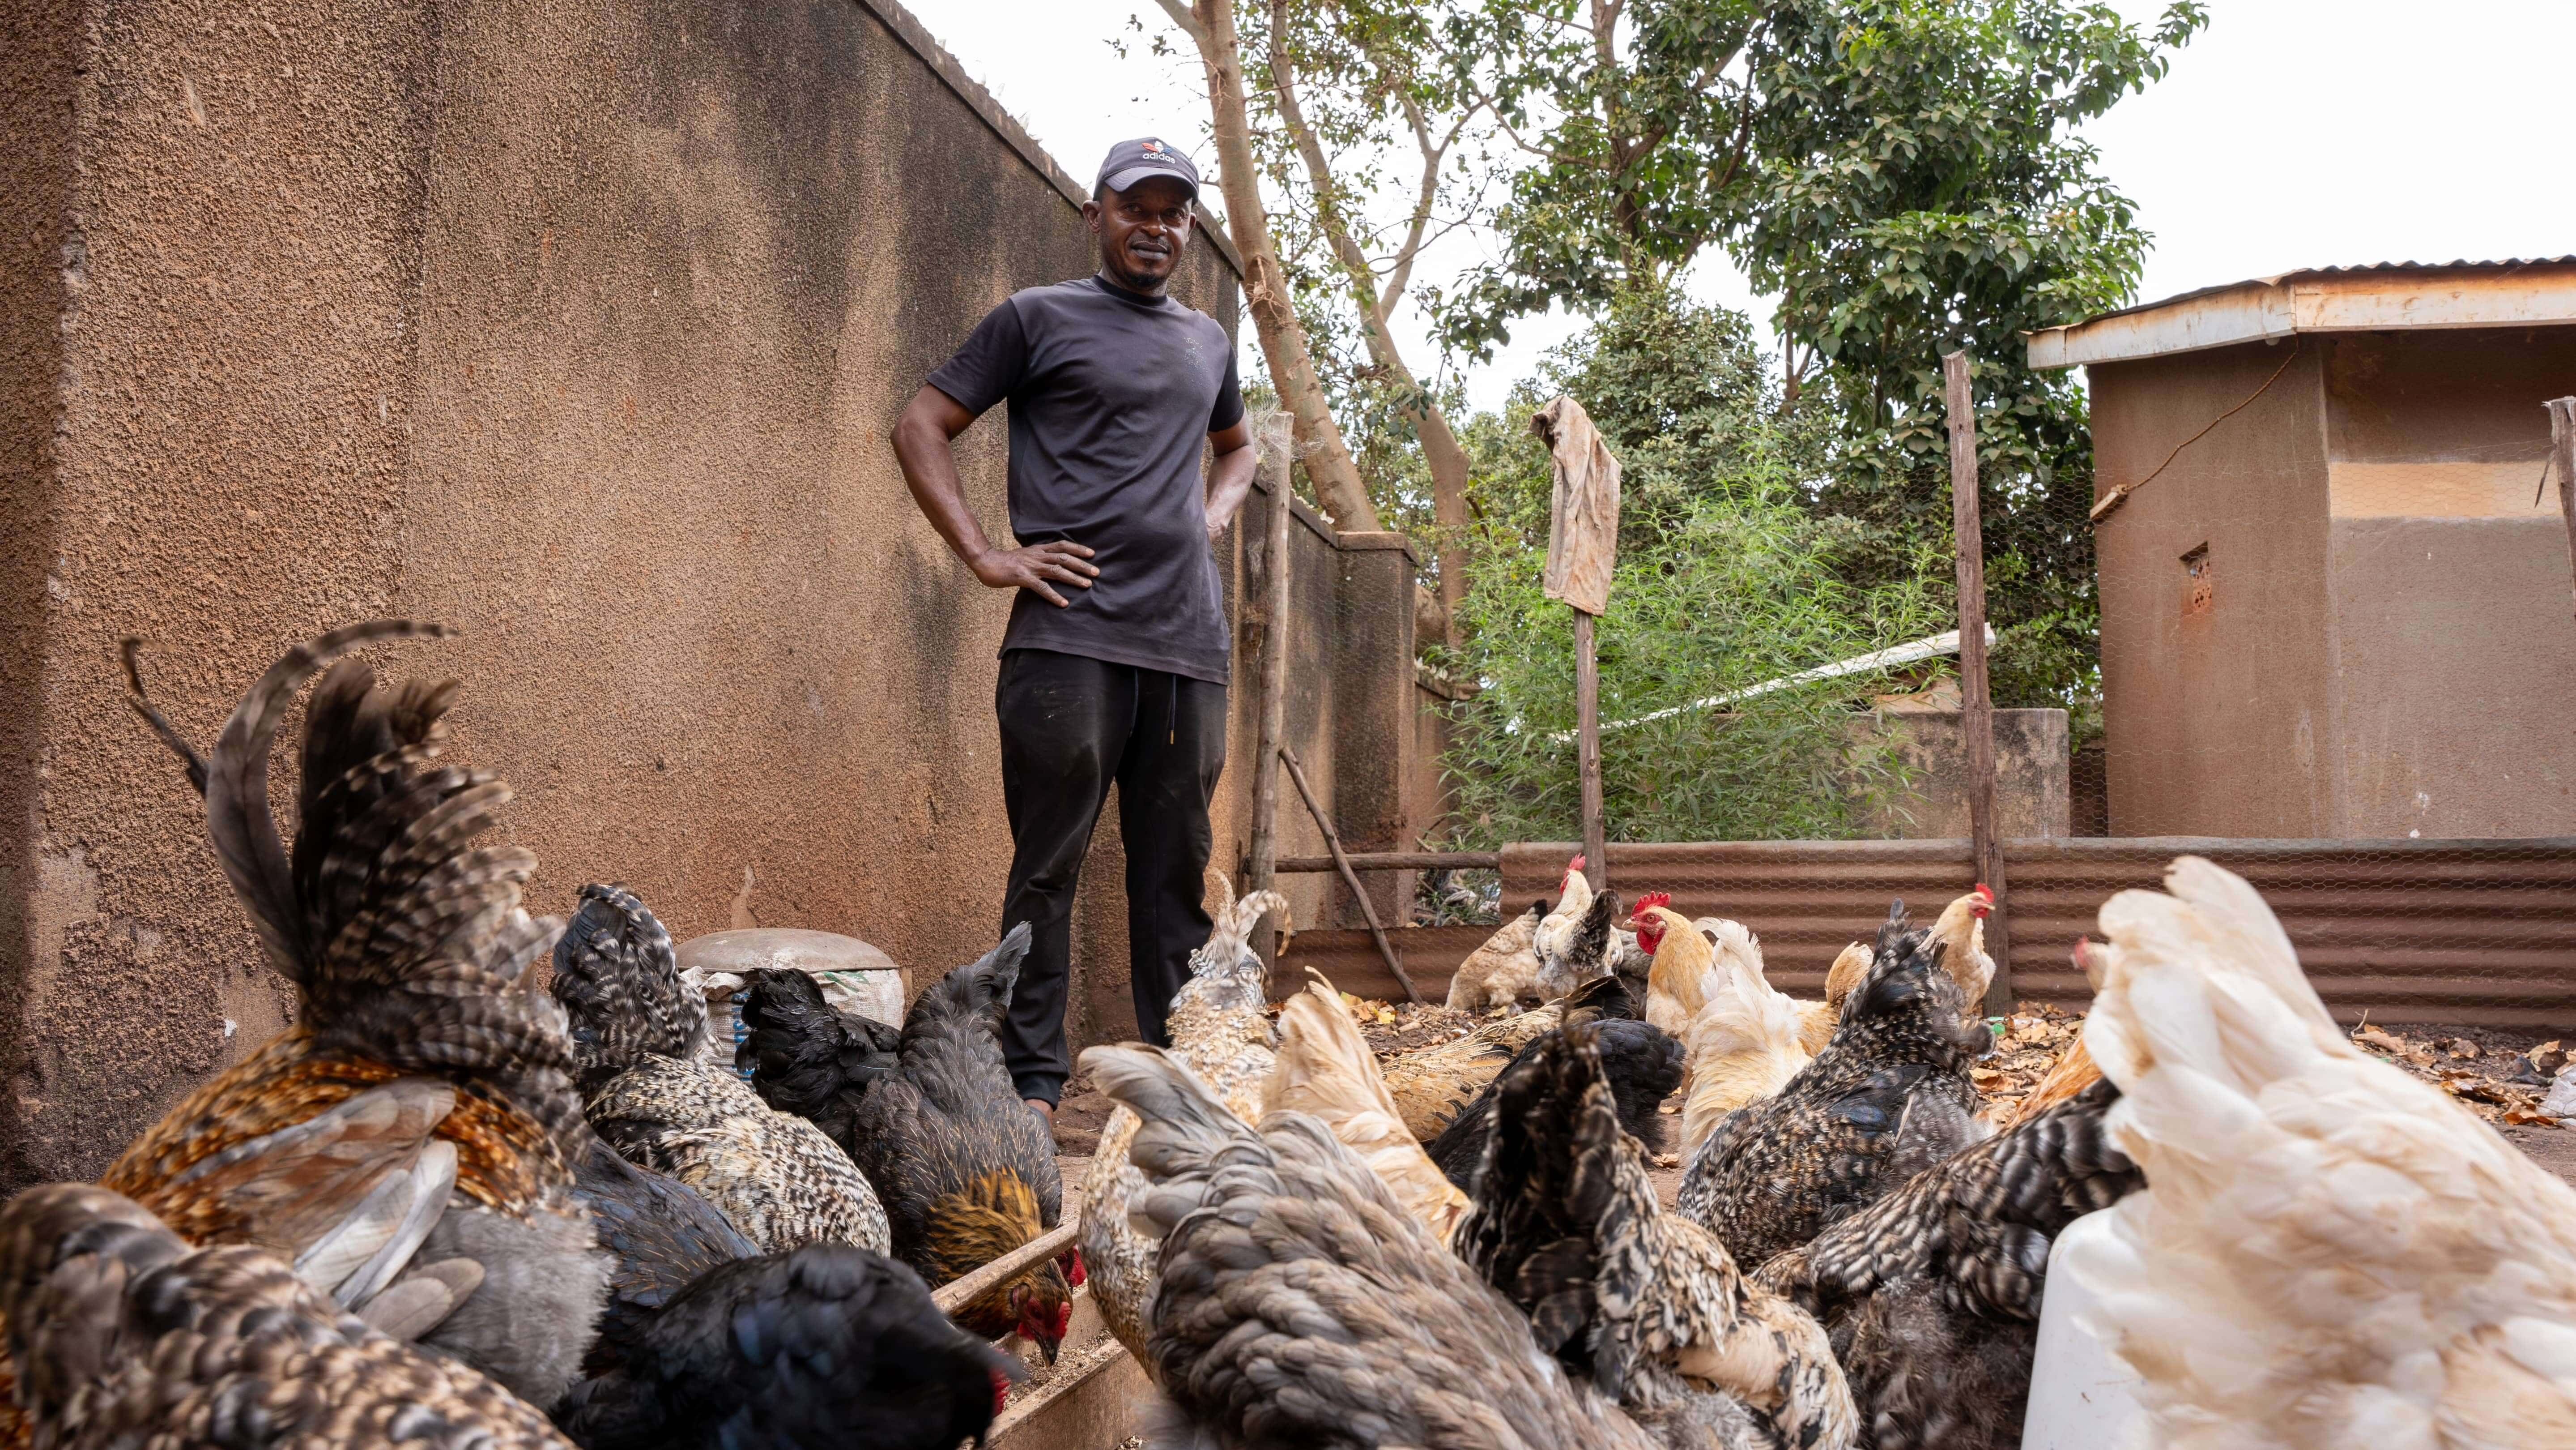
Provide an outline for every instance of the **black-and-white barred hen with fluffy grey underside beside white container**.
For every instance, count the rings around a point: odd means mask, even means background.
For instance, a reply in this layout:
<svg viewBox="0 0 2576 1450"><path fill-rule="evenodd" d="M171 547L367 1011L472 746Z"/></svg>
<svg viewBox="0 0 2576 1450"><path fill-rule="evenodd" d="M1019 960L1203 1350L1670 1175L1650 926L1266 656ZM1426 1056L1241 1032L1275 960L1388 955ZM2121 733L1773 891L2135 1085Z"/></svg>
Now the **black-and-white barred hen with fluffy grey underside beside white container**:
<svg viewBox="0 0 2576 1450"><path fill-rule="evenodd" d="M2048 1249L2143 1182L2102 1131L2117 1100L2094 1082L1762 1265L1759 1283L1832 1332L1862 1445L2022 1442Z"/></svg>

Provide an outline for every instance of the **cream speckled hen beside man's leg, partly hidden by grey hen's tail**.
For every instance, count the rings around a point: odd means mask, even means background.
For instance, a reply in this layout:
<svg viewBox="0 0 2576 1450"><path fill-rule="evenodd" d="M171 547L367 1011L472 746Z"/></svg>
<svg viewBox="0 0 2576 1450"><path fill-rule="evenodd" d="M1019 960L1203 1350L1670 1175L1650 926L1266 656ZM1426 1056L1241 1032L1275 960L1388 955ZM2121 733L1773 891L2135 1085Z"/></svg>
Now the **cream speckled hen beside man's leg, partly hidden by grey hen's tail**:
<svg viewBox="0 0 2576 1450"><path fill-rule="evenodd" d="M1275 1030L1262 1012L1270 971L1252 950L1252 927L1262 914L1280 912L1278 891L1252 891L1234 899L1234 883L1221 881L1226 901L1206 945L1190 953L1190 981L1172 994L1172 1051L1190 1071L1216 1089L1236 1118L1252 1123L1262 1113L1262 1092L1275 1066ZM1092 1301L1110 1334L1144 1357L1146 1308L1154 1295L1154 1262L1162 1244L1128 1223L1128 1205L1144 1192L1144 1174L1128 1162L1136 1138L1136 1113L1113 1107L1092 1149L1092 1172L1082 1182L1082 1265L1090 1270Z"/></svg>

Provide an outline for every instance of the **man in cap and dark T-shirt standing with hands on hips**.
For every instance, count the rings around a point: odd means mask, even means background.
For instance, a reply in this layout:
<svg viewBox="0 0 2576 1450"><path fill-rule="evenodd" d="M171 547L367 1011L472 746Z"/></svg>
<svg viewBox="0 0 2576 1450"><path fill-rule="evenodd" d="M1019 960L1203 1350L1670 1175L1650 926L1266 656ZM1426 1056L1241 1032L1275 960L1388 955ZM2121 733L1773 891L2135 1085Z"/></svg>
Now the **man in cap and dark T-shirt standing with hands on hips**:
<svg viewBox="0 0 2576 1450"><path fill-rule="evenodd" d="M1064 992L1082 852L1110 783L1126 840L1128 989L1146 1040L1208 937L1208 801L1226 765L1226 613L1211 543L1252 489L1234 343L1164 286L1190 245L1198 167L1159 139L1100 162L1082 219L1100 273L994 306L894 425L904 484L948 549L1018 590L994 713L1010 883L1033 943L1002 1028L1020 1097L1054 1118L1072 1074ZM1010 531L984 536L948 443L1010 399ZM1216 466L1198 471L1200 443Z"/></svg>

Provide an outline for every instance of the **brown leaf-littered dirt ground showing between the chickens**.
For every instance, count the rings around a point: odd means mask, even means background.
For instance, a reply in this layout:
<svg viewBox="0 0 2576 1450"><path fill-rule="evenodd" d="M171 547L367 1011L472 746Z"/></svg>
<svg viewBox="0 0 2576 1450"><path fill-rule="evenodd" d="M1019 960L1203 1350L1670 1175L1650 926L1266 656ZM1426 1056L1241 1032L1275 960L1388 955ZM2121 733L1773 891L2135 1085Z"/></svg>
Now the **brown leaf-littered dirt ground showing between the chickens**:
<svg viewBox="0 0 2576 1450"><path fill-rule="evenodd" d="M1471 1017L1445 1007L1391 1007L1383 1002L1355 1002L1368 1046L1383 1059L1425 1048L1463 1035ZM1978 1074L1978 1087L1996 1102L2009 1102L2027 1092L2053 1061L2056 1051L2074 1038L2079 1020L2069 1012L2025 1010L2004 1022L1996 1056ZM2548 1077L2566 1061L2558 1040L2512 1028L2445 1028L2406 1022L2396 1028L2360 1028L2354 1043L2372 1056L2432 1082L2460 1100L2463 1107L2486 1118L2506 1144L2563 1182L2576 1185L2576 1128L2563 1128L2537 1115ZM2568 1046L2576 1046L2571 1040ZM2537 1048L2537 1051L2535 1051ZM2537 1059L2537 1061L2535 1061ZM1680 1095L1672 1097L1667 1123L1669 1149L1680 1149ZM1100 1128L1108 1123L1110 1100L1092 1089L1090 1077L1077 1074L1064 1084L1064 1102L1056 1107L1056 1151L1064 1154L1064 1187L1069 1200L1079 1195L1090 1154L1100 1146ZM2576 1123L2571 1118L2568 1123ZM1682 1185L1680 1159L1656 1159L1651 1167L1656 1192L1669 1205ZM1072 1203L1066 1203L1072 1205Z"/></svg>

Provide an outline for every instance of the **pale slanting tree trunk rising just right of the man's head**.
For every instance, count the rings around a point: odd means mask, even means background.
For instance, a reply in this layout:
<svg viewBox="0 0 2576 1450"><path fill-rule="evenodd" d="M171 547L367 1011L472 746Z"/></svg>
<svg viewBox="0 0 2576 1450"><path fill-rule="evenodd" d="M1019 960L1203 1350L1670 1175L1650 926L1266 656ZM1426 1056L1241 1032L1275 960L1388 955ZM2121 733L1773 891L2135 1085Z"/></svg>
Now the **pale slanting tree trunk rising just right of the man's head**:
<svg viewBox="0 0 2576 1450"><path fill-rule="evenodd" d="M1296 319L1288 286L1280 273L1278 247L1270 245L1270 216L1262 211L1260 167L1252 162L1252 124L1244 113L1244 59L1242 39L1234 28L1234 0L1159 0L1162 10L1198 44L1198 62L1208 70L1208 113L1216 131L1216 165L1224 173L1226 229L1234 250L1244 258L1244 304L1252 306L1252 327L1262 337L1262 358L1270 361L1270 381L1280 389L1280 407L1296 420L1298 456L1314 494L1332 515L1334 528L1376 533L1378 510L1368 502L1342 428L1324 407L1324 384L1314 376L1314 355L1306 350L1306 327Z"/></svg>

